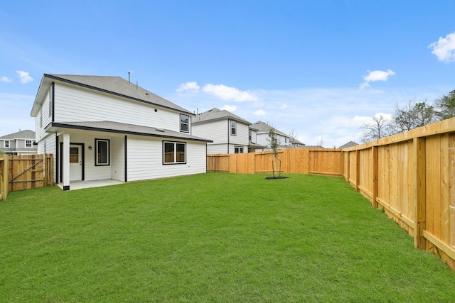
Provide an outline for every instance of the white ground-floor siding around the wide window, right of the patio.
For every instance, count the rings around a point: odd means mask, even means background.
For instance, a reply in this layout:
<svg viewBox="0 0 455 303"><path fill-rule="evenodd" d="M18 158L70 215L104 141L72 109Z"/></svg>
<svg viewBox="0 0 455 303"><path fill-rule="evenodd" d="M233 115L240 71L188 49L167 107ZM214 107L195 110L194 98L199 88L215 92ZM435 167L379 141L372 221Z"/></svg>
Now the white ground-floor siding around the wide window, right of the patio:
<svg viewBox="0 0 455 303"><path fill-rule="evenodd" d="M185 141L186 164L163 165L163 139L128 136L128 181L206 172L205 143Z"/></svg>

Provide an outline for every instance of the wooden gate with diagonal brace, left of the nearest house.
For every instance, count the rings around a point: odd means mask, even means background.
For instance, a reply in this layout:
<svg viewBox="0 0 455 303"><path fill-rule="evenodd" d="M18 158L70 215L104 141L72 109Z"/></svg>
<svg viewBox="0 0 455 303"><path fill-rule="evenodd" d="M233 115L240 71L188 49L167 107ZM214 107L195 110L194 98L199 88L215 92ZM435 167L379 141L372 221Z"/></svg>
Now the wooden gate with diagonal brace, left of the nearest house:
<svg viewBox="0 0 455 303"><path fill-rule="evenodd" d="M53 185L53 154L9 156L9 191Z"/></svg>

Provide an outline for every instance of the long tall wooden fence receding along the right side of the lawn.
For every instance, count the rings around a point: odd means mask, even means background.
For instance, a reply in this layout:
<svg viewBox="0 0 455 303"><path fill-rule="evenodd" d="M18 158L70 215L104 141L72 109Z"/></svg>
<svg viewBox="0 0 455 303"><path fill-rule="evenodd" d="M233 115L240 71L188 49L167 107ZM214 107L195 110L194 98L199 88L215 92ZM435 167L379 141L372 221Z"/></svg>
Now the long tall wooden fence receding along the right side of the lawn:
<svg viewBox="0 0 455 303"><path fill-rule="evenodd" d="M455 270L455 118L343 153L343 177Z"/></svg>

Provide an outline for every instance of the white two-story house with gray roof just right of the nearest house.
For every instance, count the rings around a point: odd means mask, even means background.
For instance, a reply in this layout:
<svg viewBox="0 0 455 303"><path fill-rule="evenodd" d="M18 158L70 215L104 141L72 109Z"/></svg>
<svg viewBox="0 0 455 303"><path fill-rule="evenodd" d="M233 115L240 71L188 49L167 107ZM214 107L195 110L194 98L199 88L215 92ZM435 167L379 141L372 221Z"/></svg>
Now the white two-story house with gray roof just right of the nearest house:
<svg viewBox="0 0 455 303"><path fill-rule="evenodd" d="M256 144L256 129L250 128L250 124L230 111L214 108L196 115L193 135L213 141L207 144L208 154L248 153L264 148Z"/></svg>

